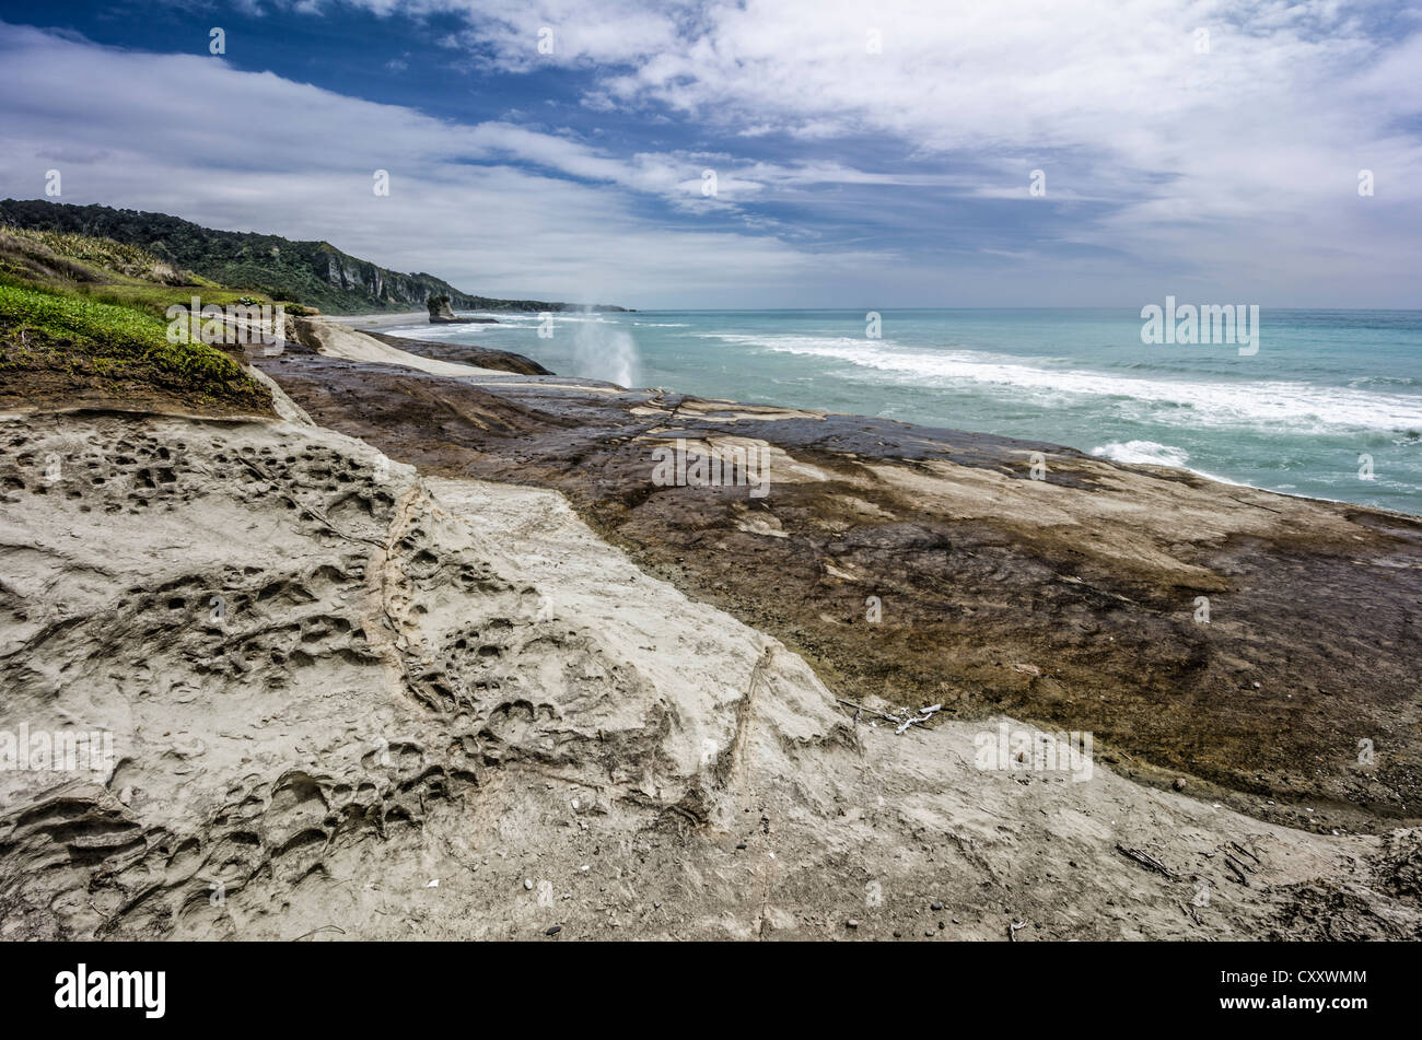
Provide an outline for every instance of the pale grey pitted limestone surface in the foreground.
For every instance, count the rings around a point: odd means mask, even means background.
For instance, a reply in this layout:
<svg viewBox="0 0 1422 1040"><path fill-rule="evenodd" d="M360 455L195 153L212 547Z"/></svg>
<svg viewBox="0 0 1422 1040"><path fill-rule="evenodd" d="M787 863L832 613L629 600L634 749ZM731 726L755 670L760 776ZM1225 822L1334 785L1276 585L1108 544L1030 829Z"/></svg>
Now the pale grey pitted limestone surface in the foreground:
<svg viewBox="0 0 1422 1040"><path fill-rule="evenodd" d="M0 730L115 746L0 773L3 938L1422 926L1413 833L980 769L1020 723L856 717L555 492L297 422L30 416L0 448Z"/></svg>

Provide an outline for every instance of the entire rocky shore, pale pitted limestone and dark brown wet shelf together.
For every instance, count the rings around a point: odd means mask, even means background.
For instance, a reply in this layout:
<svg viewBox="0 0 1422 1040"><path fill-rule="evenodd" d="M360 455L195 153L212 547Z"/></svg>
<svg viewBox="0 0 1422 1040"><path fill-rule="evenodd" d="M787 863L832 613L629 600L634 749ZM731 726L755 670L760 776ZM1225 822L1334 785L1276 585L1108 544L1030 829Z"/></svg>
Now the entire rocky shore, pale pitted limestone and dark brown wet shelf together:
<svg viewBox="0 0 1422 1040"><path fill-rule="evenodd" d="M292 331L0 418L0 936L1422 936L1415 517Z"/></svg>

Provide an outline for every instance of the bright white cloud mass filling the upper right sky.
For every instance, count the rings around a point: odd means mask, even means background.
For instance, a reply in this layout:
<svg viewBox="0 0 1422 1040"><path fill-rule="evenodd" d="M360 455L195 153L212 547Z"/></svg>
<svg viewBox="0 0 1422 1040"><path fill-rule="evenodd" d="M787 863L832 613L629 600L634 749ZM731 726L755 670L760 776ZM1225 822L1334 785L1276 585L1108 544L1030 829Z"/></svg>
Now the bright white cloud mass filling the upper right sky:
<svg viewBox="0 0 1422 1040"><path fill-rule="evenodd" d="M1422 36L1389 3L1335 0L417 0L462 11L465 40L510 72L597 72L587 104L675 112L728 139L784 134L833 155L883 143L975 197L1021 195L1048 169L1051 206L1095 200L1075 237L1182 276L1283 291L1330 257L1334 286L1418 287ZM1371 28L1391 18L1399 40ZM553 54L536 51L540 26ZM1402 26L1402 30L1396 27ZM882 53L869 53L877 30ZM1209 34L1197 53L1196 30ZM1412 129L1399 132L1396 126ZM845 145L849 146L848 143ZM846 156L840 156L846 158ZM850 158L849 165L867 165ZM1357 172L1379 189L1358 206ZM647 170L647 176L653 172ZM755 179L747 176L747 179ZM960 180L967 180L960 178ZM792 183L788 173L766 185ZM1385 188L1384 188L1385 186ZM765 197L782 197L771 192ZM1386 213L1385 219L1376 219ZM1231 240L1236 243L1230 246ZM1237 254L1271 251L1274 271ZM1254 243L1258 249L1250 249ZM1347 263L1340 263L1345 260ZM1348 264L1352 264L1349 267ZM1303 288L1307 298L1318 286Z"/></svg>

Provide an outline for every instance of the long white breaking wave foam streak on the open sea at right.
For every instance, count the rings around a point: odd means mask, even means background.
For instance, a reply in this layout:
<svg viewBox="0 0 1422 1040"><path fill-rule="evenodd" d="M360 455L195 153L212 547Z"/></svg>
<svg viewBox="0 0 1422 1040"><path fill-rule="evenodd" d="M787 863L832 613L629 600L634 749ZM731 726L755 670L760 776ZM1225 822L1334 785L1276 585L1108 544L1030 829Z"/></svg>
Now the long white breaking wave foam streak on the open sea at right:
<svg viewBox="0 0 1422 1040"><path fill-rule="evenodd" d="M1035 358L970 350L897 347L852 337L718 334L727 342L782 354L846 361L857 378L951 388L971 384L1042 405L1061 396L1115 398L1118 408L1149 409L1153 422L1179 426L1254 426L1291 433L1338 429L1422 429L1422 396L1375 394L1303 382L1192 382L1054 368ZM1031 364L1037 361L1038 364Z"/></svg>

